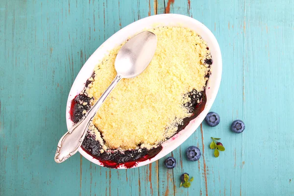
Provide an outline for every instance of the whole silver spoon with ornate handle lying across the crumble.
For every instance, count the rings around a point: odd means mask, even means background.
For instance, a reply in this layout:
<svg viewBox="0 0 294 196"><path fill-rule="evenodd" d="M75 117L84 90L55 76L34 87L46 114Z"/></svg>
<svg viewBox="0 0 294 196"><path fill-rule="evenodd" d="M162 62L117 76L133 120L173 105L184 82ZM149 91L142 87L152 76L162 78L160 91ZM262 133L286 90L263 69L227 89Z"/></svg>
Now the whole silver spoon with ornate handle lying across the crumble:
<svg viewBox="0 0 294 196"><path fill-rule="evenodd" d="M149 31L139 33L123 45L115 59L114 66L117 76L83 119L61 137L54 157L56 163L62 163L77 152L83 143L90 123L112 89L122 78L132 78L142 73L150 63L156 45L156 35Z"/></svg>

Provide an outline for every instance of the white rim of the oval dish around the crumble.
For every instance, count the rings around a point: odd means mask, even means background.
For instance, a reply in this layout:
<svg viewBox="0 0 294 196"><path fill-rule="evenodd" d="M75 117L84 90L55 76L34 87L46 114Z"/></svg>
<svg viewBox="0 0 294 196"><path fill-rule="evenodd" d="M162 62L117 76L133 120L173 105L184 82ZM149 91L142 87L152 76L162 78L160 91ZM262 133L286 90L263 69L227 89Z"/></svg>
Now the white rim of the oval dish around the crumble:
<svg viewBox="0 0 294 196"><path fill-rule="evenodd" d="M140 166L150 164L150 163L164 157L168 153L172 152L172 150L174 150L176 147L179 147L184 141L186 141L194 133L194 131L196 131L196 128L198 128L200 123L202 123L202 121L204 120L205 116L207 115L208 111L210 110L210 108L211 108L211 106L212 106L212 104L213 104L213 102L214 102L214 100L215 100L215 98L217 96L217 93L218 93L219 87L220 87L220 83L221 83L221 72L222 72L221 49L220 49L218 41L215 38L215 36L213 35L213 33L205 25L203 25L202 23L200 23L196 19L193 19L193 18L185 16L185 15L180 15L180 14L153 15L153 16L149 16L149 17L140 19L140 20L138 20L138 21L136 21L134 23L131 23L131 24L123 27L121 30L119 30L115 34L113 34L110 38L108 38L89 57L89 59L86 61L86 63L81 68L80 72L77 74L77 76L76 76L76 78L75 78L75 80L73 82L72 88L70 90L68 100L67 100L66 123L67 123L67 128L70 129L73 126L73 122L70 120L70 114L69 114L70 107L71 107L71 101L81 91L81 89L79 89L79 90L77 89L77 84L80 85L79 76L83 72L91 72L91 74L93 74L94 69L89 71L89 69L87 70L87 68L90 66L90 64L92 64L92 66L93 66L94 62L96 62L95 65L98 63L96 54L98 54L99 50L105 50L105 49L103 49L103 47L107 46L107 44L109 44L112 40L116 39L116 37L118 35L120 35L120 34L127 34L128 37L131 37L131 36L134 36L136 33L139 33L141 31L145 30L146 28L138 27L138 26L140 26L141 23L142 24L146 23L148 25L149 24L154 25L152 27L158 27L158 26L182 26L181 23L175 25L173 22L172 22L173 25L166 25L166 21L173 21L173 19L180 20L182 22L186 21L186 22L189 22L189 23L197 26L197 29L200 29L202 31L202 33L199 34L199 35L201 37L203 37L204 34L205 34L205 37L208 37L210 39L210 43L207 43L207 45L210 48L210 50L213 49L213 50L216 51L215 54L212 55L212 59L213 59L213 62L217 62L217 67L213 66L214 63L212 64L211 70L212 70L212 68L214 68L214 70L215 70L215 71L212 72L212 74L216 74L216 76L214 75L215 79L213 81L208 79L206 87L208 86L208 84L210 84L211 86L214 86L214 88L210 90L211 91L211 96L210 96L209 99L207 98L207 102L205 104L204 110L194 120L192 120L183 130L179 131L172 138L165 141L161 145L163 147L162 150L157 155L155 155L151 159L147 159L147 160L142 161L142 162L137 162L137 164L135 166L131 167L131 168L136 168L136 167L140 167ZM158 22L159 20L164 20L165 25L162 25L161 22ZM184 26L182 26L182 27L184 27ZM133 31L134 31L133 29L136 29L136 28L138 29L138 31L135 31L133 33ZM189 27L187 27L187 28L189 28ZM198 32L196 31L196 33L198 33ZM203 40L207 42L206 39L203 38ZM210 78L211 78L211 76L210 76ZM206 92L207 92L207 89L206 89ZM173 145L171 145L171 144L173 144ZM92 163L95 163L95 164L97 164L99 166L105 167L103 163L101 163L98 159L96 159L92 155L88 154L81 147L78 149L78 151L80 152L80 154L82 156L84 156L86 159L88 159ZM126 168L124 165L120 165L120 167L118 167L117 169L129 169L129 168Z"/></svg>

